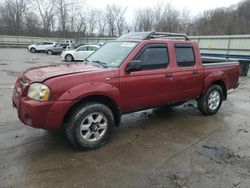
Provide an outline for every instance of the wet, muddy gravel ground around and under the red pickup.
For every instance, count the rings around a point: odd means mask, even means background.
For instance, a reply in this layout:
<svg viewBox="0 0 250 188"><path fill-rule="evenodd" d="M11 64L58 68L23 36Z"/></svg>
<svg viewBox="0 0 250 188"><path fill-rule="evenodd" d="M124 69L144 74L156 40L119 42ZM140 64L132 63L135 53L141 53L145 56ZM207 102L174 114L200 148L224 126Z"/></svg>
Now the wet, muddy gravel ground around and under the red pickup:
<svg viewBox="0 0 250 188"><path fill-rule="evenodd" d="M60 56L0 49L0 57L0 187L249 188L249 77L214 116L194 101L128 114L107 145L80 152L59 132L23 125L12 109L17 76Z"/></svg>

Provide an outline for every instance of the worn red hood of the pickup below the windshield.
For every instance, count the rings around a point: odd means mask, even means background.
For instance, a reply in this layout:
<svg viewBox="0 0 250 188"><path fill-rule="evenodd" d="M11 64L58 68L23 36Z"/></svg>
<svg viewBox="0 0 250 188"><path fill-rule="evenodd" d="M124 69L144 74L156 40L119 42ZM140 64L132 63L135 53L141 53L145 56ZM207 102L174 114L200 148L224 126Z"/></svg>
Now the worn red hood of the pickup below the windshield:
<svg viewBox="0 0 250 188"><path fill-rule="evenodd" d="M64 63L28 69L24 72L22 80L28 83L44 82L45 80L53 77L101 70L103 70L101 67L86 65L85 63L80 62L69 64Z"/></svg>

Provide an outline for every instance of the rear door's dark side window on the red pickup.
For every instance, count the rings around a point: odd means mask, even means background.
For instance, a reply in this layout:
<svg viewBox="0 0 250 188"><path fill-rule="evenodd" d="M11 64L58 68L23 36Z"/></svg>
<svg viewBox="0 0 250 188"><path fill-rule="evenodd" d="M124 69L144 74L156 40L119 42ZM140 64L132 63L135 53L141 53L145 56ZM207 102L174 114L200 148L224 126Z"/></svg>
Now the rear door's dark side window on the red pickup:
<svg viewBox="0 0 250 188"><path fill-rule="evenodd" d="M195 65L194 49L192 45L175 45L176 62L179 67L192 67Z"/></svg>

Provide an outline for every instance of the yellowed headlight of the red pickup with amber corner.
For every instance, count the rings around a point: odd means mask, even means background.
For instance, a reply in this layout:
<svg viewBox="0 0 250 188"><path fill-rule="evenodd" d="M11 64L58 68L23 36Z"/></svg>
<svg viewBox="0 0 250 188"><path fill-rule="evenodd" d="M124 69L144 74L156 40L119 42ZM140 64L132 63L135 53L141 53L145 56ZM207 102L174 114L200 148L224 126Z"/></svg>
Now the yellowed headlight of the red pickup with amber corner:
<svg viewBox="0 0 250 188"><path fill-rule="evenodd" d="M50 97L50 89L44 84L31 84L28 90L28 97L38 101L48 101Z"/></svg>

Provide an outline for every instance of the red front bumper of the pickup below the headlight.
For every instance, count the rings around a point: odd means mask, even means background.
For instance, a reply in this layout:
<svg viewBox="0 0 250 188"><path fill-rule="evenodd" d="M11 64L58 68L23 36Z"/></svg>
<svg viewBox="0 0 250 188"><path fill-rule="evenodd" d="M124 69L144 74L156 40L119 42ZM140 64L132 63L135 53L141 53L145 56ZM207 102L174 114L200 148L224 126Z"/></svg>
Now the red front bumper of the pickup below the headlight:
<svg viewBox="0 0 250 188"><path fill-rule="evenodd" d="M14 89L13 106L17 109L18 118L25 125L47 130L59 129L72 101L35 101L20 96Z"/></svg>

